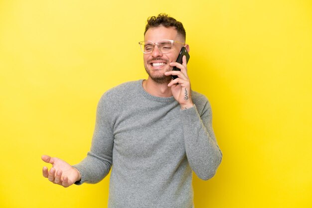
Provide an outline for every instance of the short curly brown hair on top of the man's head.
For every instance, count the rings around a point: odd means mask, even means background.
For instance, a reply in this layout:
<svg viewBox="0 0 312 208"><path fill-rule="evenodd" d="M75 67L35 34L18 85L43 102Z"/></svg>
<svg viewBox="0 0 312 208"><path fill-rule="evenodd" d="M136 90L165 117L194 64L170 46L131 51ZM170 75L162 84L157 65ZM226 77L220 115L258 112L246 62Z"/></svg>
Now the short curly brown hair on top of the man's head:
<svg viewBox="0 0 312 208"><path fill-rule="evenodd" d="M181 35L184 38L184 40L186 38L186 33L183 24L174 19L173 17L168 16L165 13L160 13L158 14L158 16L150 16L148 18L148 23L145 26L144 35L151 27L159 27L159 26L174 27L177 33Z"/></svg>

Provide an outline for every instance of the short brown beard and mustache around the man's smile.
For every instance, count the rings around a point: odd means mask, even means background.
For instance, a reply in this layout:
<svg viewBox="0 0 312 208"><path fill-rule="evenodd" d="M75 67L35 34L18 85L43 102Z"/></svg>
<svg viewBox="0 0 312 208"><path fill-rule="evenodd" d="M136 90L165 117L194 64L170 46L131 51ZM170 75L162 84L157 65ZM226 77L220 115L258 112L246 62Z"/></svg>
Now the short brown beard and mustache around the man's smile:
<svg viewBox="0 0 312 208"><path fill-rule="evenodd" d="M145 71L148 73L149 77L156 82L157 84L164 84L164 83L169 83L171 81L171 76L165 76L164 72L168 72L172 70L172 67L170 67L169 65L166 65L165 70L150 70L149 66L151 66L151 61L165 61L166 64L169 63L169 60L165 60L165 59L152 59L150 60L147 64L144 64L145 67ZM154 72L153 72L154 71ZM163 72L162 72L163 71Z"/></svg>

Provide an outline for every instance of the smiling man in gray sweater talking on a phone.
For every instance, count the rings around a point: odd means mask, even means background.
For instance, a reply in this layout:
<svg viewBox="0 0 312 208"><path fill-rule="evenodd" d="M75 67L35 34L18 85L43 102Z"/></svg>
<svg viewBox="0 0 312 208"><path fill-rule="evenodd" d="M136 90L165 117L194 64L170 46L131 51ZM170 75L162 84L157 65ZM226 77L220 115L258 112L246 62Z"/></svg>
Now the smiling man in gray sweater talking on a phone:
<svg viewBox="0 0 312 208"><path fill-rule="evenodd" d="M53 164L50 171L43 167L43 176L68 187L97 183L112 167L108 207L192 208L192 170L208 180L222 158L211 107L191 91L185 56L182 64L175 62L183 46L189 51L182 23L166 14L150 17L144 39L148 79L106 92L87 157L71 166L43 155Z"/></svg>

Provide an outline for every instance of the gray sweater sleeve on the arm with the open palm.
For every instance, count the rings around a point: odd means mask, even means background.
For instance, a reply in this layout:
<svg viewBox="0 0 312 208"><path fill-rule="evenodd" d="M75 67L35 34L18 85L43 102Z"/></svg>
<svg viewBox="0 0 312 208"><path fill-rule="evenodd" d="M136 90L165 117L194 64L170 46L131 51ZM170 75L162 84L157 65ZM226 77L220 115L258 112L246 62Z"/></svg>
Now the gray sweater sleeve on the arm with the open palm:
<svg viewBox="0 0 312 208"><path fill-rule="evenodd" d="M114 135L107 116L108 108L105 106L104 97L102 96L97 106L91 149L86 158L79 164L73 165L81 174L81 180L76 182L76 185L101 181L112 166Z"/></svg>

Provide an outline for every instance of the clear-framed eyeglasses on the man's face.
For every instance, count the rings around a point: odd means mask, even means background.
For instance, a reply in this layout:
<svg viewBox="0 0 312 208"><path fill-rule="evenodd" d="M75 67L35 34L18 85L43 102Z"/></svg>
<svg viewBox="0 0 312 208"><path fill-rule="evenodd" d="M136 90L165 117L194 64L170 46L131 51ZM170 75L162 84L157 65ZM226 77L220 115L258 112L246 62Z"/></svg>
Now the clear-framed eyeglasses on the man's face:
<svg viewBox="0 0 312 208"><path fill-rule="evenodd" d="M149 41L149 40L139 42L139 44L141 46L141 50L145 54L152 53L154 48L155 48L155 45L157 45L158 50L161 53L169 53L172 49L173 43L179 43L179 44L185 45L185 43L181 43L181 42L176 41L176 40L160 40L157 43L154 43L154 42Z"/></svg>

